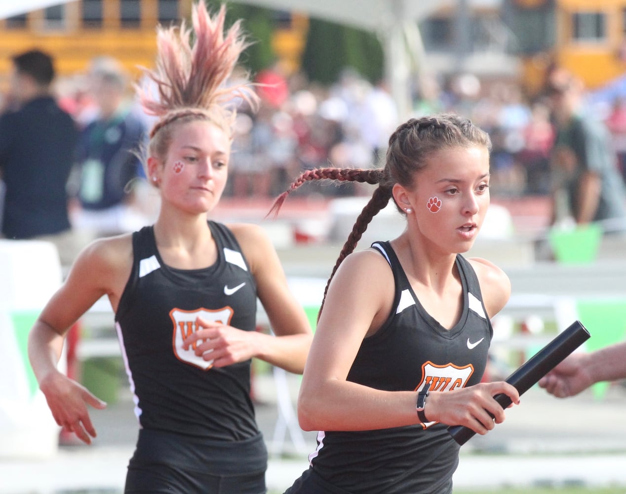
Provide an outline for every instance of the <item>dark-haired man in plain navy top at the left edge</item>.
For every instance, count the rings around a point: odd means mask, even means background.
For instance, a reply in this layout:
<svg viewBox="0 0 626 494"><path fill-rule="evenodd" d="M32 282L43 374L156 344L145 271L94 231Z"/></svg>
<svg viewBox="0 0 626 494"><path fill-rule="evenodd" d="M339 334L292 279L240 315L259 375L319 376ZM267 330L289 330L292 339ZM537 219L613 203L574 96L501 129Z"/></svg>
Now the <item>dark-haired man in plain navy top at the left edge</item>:
<svg viewBox="0 0 626 494"><path fill-rule="evenodd" d="M12 61L11 109L0 116L0 172L6 186L2 234L50 240L61 264L68 265L80 247L66 192L78 130L53 97L52 57L33 49Z"/></svg>

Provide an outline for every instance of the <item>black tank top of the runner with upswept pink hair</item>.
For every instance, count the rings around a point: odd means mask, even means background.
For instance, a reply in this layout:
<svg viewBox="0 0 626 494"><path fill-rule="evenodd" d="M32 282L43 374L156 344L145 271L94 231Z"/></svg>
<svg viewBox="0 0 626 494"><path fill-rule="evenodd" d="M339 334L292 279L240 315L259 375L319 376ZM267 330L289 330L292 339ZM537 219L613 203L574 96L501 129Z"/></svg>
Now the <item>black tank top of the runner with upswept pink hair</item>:
<svg viewBox="0 0 626 494"><path fill-rule="evenodd" d="M208 222L218 259L206 269L165 265L153 227L133 234L133 270L115 315L142 428L217 441L259 436L250 399L250 361L212 368L185 336L197 316L255 331L256 284L239 244Z"/></svg>

